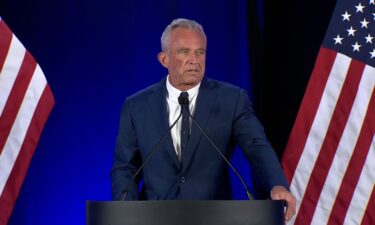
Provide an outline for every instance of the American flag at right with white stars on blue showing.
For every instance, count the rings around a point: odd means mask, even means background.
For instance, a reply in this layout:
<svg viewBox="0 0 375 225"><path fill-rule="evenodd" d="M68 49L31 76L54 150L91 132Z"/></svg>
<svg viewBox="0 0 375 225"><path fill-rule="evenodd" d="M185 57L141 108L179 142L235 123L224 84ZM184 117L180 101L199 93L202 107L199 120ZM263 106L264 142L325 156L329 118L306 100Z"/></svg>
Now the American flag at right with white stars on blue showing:
<svg viewBox="0 0 375 225"><path fill-rule="evenodd" d="M375 224L375 0L338 0L282 164L290 224Z"/></svg>

